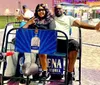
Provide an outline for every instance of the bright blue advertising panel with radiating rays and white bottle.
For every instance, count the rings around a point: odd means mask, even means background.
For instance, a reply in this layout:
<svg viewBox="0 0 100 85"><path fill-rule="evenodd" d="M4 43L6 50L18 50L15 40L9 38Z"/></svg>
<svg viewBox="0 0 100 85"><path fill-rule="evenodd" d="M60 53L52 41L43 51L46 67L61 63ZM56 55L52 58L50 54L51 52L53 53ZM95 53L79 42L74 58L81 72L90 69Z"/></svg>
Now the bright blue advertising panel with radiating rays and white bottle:
<svg viewBox="0 0 100 85"><path fill-rule="evenodd" d="M16 32L15 51L52 54L56 52L57 32L20 28Z"/></svg>

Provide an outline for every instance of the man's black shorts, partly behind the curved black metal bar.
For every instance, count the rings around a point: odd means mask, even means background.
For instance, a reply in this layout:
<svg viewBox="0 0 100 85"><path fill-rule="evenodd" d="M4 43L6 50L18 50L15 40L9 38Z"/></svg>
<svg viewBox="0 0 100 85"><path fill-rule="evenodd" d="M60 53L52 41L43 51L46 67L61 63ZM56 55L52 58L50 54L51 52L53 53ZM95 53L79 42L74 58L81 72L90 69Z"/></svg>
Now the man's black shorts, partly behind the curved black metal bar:
<svg viewBox="0 0 100 85"><path fill-rule="evenodd" d="M57 40L57 52L66 53L66 49L68 48L68 53L71 51L78 51L79 43L74 39L68 40L68 47L66 46L66 40Z"/></svg>

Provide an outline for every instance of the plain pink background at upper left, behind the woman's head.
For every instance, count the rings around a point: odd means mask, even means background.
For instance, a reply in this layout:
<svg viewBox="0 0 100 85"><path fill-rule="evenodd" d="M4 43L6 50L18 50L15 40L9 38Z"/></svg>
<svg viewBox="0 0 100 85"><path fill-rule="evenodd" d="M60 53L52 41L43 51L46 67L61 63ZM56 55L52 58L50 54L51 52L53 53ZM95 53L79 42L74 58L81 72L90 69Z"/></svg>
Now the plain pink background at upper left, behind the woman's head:
<svg viewBox="0 0 100 85"><path fill-rule="evenodd" d="M19 7L18 2L21 5L27 5L28 8L34 10L38 3L47 3L49 7L52 7L52 0L1 0L0 1L0 15L5 14L5 10L9 9L10 13L13 14L15 10Z"/></svg>

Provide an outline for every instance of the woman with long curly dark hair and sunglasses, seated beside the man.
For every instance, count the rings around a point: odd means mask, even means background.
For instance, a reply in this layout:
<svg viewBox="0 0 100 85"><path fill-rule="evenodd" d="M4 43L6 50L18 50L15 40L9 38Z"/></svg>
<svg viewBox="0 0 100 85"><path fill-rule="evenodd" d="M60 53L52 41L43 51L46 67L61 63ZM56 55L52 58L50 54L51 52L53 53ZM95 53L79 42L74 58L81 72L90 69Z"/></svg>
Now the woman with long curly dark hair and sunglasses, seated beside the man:
<svg viewBox="0 0 100 85"><path fill-rule="evenodd" d="M38 4L36 6L34 17L30 19L24 26L24 28L30 28L30 29L34 29L36 27L38 29L55 28L54 18L45 4ZM47 72L47 55L39 54L39 58L43 70L39 76L45 78L50 77L49 73Z"/></svg>

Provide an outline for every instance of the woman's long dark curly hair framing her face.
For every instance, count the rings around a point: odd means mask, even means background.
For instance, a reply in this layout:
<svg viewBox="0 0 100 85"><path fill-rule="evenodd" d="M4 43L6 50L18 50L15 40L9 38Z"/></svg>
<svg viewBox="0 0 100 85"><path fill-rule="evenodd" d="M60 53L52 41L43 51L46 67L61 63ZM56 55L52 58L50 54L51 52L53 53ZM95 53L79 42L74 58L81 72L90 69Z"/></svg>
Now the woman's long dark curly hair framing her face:
<svg viewBox="0 0 100 85"><path fill-rule="evenodd" d="M36 18L35 21L37 23L40 21L40 17L38 16L38 9L40 6L43 7L46 12L45 16L42 18L42 19L44 19L44 24L49 23L50 21L52 21L54 19L54 16L51 14L50 10L48 9L48 7L45 4L38 4L36 6L35 13L34 13L34 16Z"/></svg>

